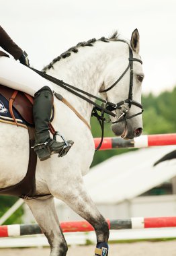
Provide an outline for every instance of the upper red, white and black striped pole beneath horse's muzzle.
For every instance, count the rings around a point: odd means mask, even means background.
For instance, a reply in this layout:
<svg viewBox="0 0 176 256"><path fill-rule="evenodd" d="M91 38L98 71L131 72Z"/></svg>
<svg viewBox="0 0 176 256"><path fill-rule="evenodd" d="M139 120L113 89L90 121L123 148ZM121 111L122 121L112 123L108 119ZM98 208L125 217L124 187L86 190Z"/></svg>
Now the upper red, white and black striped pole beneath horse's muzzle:
<svg viewBox="0 0 176 256"><path fill-rule="evenodd" d="M101 138L94 138L95 148ZM147 148L151 146L176 145L176 133L141 135L134 139L122 139L121 137L104 137L100 150L112 150L118 148Z"/></svg>

